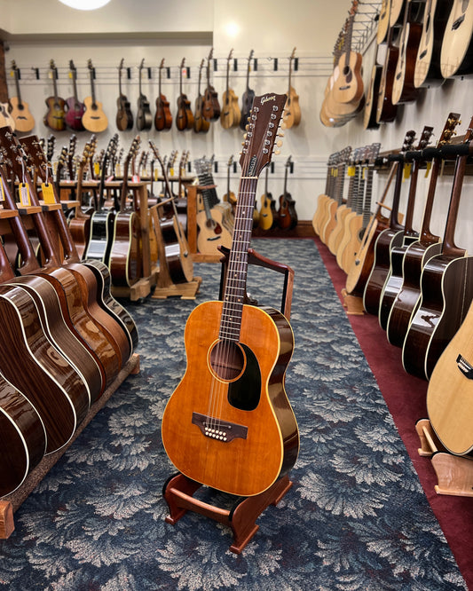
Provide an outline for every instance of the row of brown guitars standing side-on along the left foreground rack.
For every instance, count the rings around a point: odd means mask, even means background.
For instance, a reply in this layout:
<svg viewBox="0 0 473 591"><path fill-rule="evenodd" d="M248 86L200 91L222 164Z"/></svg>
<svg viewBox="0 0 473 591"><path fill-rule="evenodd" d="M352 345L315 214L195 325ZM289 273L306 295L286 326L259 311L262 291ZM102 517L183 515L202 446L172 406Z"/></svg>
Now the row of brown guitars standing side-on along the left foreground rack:
<svg viewBox="0 0 473 591"><path fill-rule="evenodd" d="M67 445L138 344L105 264L81 262L38 138L0 129L0 496Z"/></svg>

